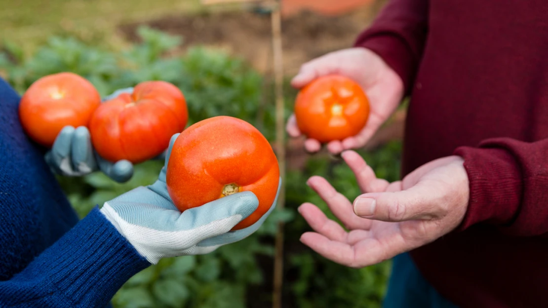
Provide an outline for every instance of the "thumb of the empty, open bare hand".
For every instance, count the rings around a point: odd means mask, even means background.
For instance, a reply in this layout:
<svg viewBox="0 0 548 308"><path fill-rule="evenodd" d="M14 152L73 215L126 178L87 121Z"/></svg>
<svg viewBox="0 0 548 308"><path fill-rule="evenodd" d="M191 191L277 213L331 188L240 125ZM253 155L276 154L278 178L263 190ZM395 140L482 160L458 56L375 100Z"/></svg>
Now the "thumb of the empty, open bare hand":
<svg viewBox="0 0 548 308"><path fill-rule="evenodd" d="M385 222L432 219L435 207L429 195L417 185L401 191L363 194L353 202L354 213Z"/></svg>

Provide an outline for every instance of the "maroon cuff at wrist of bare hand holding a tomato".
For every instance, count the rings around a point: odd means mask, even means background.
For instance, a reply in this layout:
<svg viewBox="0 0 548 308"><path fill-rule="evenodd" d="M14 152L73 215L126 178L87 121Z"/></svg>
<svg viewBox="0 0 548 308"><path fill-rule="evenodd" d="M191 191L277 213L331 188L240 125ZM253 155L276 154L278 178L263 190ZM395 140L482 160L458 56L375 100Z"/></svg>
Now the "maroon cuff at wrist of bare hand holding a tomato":
<svg viewBox="0 0 548 308"><path fill-rule="evenodd" d="M376 33L370 36L368 32L361 34L354 47L363 47L378 54L403 81L405 95L412 89L417 60L408 45L392 33Z"/></svg>

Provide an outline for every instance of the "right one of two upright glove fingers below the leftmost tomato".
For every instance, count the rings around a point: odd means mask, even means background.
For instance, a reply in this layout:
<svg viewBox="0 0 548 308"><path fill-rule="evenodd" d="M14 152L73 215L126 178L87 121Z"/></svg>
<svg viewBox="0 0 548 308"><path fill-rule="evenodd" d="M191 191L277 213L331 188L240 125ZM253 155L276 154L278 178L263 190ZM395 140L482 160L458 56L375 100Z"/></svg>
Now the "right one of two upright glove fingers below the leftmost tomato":
<svg viewBox="0 0 548 308"><path fill-rule="evenodd" d="M83 174L96 170L97 162L93 155L92 140L85 126L76 129L72 136L71 160L74 170Z"/></svg>

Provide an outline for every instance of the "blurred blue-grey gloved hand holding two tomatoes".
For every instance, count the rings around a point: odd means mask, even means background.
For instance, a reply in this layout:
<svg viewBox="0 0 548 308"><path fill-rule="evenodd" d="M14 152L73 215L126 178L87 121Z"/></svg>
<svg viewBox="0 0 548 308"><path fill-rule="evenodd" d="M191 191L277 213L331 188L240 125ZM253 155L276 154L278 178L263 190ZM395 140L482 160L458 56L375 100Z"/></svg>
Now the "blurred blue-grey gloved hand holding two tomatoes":
<svg viewBox="0 0 548 308"><path fill-rule="evenodd" d="M116 90L103 98L103 102L121 93L133 93L133 88ZM127 182L133 176L133 164L128 160L115 163L102 159L93 149L89 130L85 126L75 129L65 126L51 150L45 154L45 161L53 172L62 176L85 176L101 170L116 182Z"/></svg>

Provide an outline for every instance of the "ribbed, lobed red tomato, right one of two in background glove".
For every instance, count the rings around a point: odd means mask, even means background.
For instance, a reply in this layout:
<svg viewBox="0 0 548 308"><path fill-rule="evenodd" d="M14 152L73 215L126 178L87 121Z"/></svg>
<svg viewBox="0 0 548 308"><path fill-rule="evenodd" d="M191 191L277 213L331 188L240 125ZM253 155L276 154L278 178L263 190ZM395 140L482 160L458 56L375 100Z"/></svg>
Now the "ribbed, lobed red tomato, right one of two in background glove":
<svg viewBox="0 0 548 308"><path fill-rule="evenodd" d="M131 95L123 93L102 103L89 130L102 158L137 164L167 149L170 138L185 129L188 119L182 92L173 84L150 81L136 85Z"/></svg>

